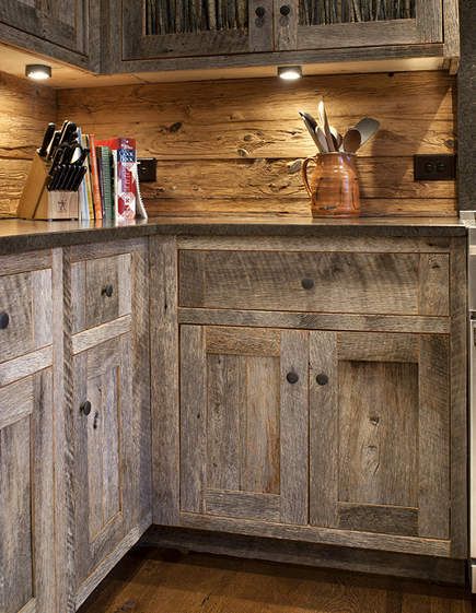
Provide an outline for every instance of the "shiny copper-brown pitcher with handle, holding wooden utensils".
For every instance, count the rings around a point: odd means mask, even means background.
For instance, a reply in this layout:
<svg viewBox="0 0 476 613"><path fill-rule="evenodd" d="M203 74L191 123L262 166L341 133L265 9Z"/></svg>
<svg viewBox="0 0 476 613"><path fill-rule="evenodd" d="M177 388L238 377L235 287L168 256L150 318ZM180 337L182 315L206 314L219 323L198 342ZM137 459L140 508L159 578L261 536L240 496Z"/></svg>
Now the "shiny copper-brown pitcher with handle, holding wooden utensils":
<svg viewBox="0 0 476 613"><path fill-rule="evenodd" d="M307 165L315 168L307 177ZM360 214L356 156L351 153L320 153L302 164L302 179L311 197L313 217L351 217Z"/></svg>

